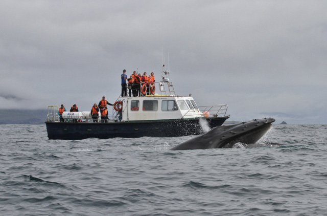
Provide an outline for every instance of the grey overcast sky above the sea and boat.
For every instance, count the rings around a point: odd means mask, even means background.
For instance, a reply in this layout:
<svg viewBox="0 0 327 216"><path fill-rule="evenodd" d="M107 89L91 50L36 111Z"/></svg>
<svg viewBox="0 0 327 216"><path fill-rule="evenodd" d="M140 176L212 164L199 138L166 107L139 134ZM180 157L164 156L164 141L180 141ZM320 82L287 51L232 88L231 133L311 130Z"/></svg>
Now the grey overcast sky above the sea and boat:
<svg viewBox="0 0 327 216"><path fill-rule="evenodd" d="M178 95L230 120L327 123L327 1L0 2L0 109L89 111L162 49Z"/></svg>

